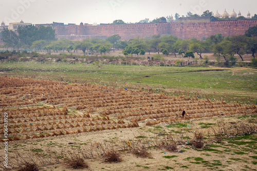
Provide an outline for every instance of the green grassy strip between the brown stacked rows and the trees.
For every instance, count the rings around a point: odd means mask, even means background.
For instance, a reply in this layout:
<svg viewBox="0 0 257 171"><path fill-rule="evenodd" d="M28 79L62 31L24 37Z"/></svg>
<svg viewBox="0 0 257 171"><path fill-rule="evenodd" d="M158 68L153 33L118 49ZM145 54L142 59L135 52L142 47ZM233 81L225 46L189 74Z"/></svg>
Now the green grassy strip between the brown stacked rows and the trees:
<svg viewBox="0 0 257 171"><path fill-rule="evenodd" d="M172 95L257 103L257 70L252 68L87 65L76 63L1 63L0 75L99 84Z"/></svg>

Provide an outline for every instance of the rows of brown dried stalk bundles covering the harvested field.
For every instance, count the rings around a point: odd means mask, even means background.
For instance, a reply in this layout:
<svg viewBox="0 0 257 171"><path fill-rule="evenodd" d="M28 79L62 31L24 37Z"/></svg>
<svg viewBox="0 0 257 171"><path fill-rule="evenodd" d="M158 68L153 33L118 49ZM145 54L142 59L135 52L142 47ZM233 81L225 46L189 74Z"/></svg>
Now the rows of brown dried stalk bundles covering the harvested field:
<svg viewBox="0 0 257 171"><path fill-rule="evenodd" d="M155 125L257 111L254 105L171 97L141 90L25 78L1 77L1 80L0 105L2 113L8 112L11 141L138 127L138 122L144 120L146 125ZM45 97L41 97L42 93ZM46 105L36 106L42 103ZM187 115L182 119L183 109ZM0 128L3 135L3 116Z"/></svg>

